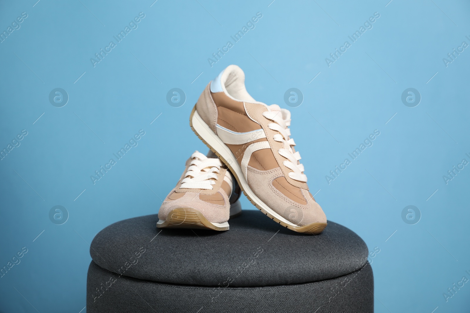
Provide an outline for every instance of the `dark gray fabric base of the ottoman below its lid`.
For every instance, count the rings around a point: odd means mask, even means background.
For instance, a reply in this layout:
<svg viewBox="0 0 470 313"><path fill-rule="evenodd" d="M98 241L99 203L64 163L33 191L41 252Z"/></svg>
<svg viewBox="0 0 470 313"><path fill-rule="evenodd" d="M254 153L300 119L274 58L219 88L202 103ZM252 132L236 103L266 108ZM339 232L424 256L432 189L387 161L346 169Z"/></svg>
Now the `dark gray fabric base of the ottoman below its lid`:
<svg viewBox="0 0 470 313"><path fill-rule="evenodd" d="M106 283L110 278L114 283ZM373 290L369 264L352 274L321 282L213 288L119 277L92 261L86 312L369 313L374 312Z"/></svg>

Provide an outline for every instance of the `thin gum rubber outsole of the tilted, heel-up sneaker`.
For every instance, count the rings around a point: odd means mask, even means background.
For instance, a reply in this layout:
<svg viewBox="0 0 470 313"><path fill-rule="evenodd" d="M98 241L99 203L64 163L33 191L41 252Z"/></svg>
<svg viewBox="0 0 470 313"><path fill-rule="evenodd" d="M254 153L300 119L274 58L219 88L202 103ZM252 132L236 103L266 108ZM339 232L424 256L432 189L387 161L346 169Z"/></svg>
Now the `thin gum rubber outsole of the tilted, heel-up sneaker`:
<svg viewBox="0 0 470 313"><path fill-rule="evenodd" d="M309 234L309 235L318 235L320 234L323 229L326 228L327 226L327 223L321 223L321 222L314 222L314 223L311 223L311 224L307 224L307 225L304 225L304 226L292 226L292 225L289 225L289 224L286 224L285 222L283 221L280 221L279 219L277 219L276 217L274 217L272 214L270 214L269 212L267 212L265 209L263 209L261 206L259 206L255 201L253 201L249 195L247 195L247 193L243 190L243 187L242 187L242 183L240 182L240 179L238 178L238 176L235 174L235 170L228 164L227 160L225 160L217 151L215 151L215 149L213 149L205 140L203 137L201 137L197 131L194 129L193 127L193 116L194 116L194 113L196 112L196 105L194 106L193 110L191 111L191 115L189 116L189 126L191 126L191 129L194 131L194 133L196 134L196 136L202 140L202 142L207 145L207 147L209 149L211 149L211 151L213 153L215 153L219 158L220 160L222 160L222 162L224 162L224 164L230 169L231 173L233 174L233 176L235 176L235 179L237 180L240 188L242 189L243 191L243 194L246 196L246 198L248 198L248 200L250 200L251 204L256 206L256 208L258 210L260 210L263 214L265 214L267 217L269 217L270 219L272 219L273 221L275 221L276 223L279 223L280 225L284 226L285 228L288 228L290 230L293 230L293 231L296 231L298 233L304 233L304 234Z"/></svg>

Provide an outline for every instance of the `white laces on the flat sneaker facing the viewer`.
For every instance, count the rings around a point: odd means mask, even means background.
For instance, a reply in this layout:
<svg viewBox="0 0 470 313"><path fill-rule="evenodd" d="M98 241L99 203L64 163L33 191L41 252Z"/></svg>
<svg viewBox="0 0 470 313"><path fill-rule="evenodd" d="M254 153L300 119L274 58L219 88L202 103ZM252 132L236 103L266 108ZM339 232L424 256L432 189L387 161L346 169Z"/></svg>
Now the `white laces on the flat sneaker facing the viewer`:
<svg viewBox="0 0 470 313"><path fill-rule="evenodd" d="M215 181L219 176L220 167L223 166L220 159L208 158L204 154L196 151L191 155L191 163L185 178L181 181L180 188L185 189L213 189ZM229 175L224 177L224 180L229 180ZM229 180L227 183L232 185Z"/></svg>

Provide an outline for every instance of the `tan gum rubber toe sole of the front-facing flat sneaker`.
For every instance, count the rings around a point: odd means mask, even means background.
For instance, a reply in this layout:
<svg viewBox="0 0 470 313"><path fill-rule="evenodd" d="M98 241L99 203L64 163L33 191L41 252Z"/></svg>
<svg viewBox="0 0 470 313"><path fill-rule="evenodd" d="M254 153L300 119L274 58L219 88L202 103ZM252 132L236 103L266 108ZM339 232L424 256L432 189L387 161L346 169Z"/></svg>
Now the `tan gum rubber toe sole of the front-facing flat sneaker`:
<svg viewBox="0 0 470 313"><path fill-rule="evenodd" d="M171 210L163 223L157 223L157 227L212 230L228 230L229 228L228 223L226 227L219 227L212 224L201 212L190 207L179 207Z"/></svg>

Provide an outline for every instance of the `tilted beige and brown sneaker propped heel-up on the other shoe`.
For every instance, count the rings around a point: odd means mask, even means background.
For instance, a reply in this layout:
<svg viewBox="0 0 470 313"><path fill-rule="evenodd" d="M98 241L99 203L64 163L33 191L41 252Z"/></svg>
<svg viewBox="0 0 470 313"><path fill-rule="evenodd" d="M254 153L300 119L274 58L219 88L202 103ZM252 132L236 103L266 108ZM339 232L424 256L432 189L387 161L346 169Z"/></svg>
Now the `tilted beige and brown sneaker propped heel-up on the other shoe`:
<svg viewBox="0 0 470 313"><path fill-rule="evenodd" d="M191 128L227 164L259 210L297 232L321 233L326 216L308 191L290 138L290 112L255 101L244 82L238 66L223 70L199 97Z"/></svg>

